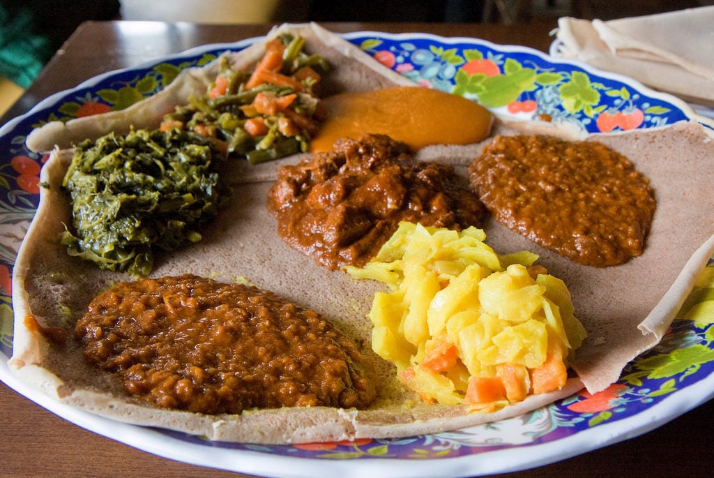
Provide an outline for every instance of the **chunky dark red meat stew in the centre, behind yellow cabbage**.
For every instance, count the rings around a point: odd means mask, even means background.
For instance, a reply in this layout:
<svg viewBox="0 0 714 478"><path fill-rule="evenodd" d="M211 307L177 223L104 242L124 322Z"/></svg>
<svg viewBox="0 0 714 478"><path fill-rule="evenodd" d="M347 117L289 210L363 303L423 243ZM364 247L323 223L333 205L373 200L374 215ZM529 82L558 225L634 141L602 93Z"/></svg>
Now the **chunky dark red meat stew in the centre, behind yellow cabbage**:
<svg viewBox="0 0 714 478"><path fill-rule="evenodd" d="M366 264L400 221L458 230L487 214L450 165L416 161L406 144L376 134L281 167L268 209L285 242L329 269Z"/></svg>

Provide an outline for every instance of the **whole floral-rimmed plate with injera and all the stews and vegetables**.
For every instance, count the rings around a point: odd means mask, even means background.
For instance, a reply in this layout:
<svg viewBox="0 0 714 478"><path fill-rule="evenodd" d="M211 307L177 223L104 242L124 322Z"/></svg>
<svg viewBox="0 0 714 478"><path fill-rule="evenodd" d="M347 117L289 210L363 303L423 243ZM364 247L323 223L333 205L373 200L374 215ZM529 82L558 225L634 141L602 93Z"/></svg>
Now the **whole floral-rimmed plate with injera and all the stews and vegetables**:
<svg viewBox="0 0 714 478"><path fill-rule="evenodd" d="M530 49L316 24L96 77L0 130L0 377L271 476L643 433L714 394L706 121Z"/></svg>

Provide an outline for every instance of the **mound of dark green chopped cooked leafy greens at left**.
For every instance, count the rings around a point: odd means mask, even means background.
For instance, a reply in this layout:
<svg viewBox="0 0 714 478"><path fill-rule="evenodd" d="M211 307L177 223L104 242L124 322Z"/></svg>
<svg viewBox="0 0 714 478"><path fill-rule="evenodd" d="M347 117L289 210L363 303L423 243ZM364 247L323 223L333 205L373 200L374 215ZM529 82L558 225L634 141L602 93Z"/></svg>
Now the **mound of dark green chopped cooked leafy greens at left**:
<svg viewBox="0 0 714 478"><path fill-rule="evenodd" d="M74 234L62 243L71 255L102 269L149 274L156 248L173 250L201 240L216 216L220 154L190 132L131 131L75 147L64 177Z"/></svg>

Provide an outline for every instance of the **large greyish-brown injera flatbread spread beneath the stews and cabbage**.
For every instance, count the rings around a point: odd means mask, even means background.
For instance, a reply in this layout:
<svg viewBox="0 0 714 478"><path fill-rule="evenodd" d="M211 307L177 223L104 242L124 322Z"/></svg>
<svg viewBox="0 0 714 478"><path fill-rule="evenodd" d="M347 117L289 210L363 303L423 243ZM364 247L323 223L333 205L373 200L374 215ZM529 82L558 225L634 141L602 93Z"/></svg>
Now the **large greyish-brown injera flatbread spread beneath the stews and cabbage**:
<svg viewBox="0 0 714 478"><path fill-rule="evenodd" d="M555 132L554 126L537 126ZM495 132L509 134L533 127L498 121ZM574 366L591 392L614 382L625 364L659 341L692 287L693 277L714 249L714 204L707 194L710 181L706 168L714 154L709 131L699 124L683 122L598 139L633 159L652 180L658 211L642 257L617 268L582 267L498 224L489 223L485 228L487 242L496 252L533 250L541 255L540 264L568 284L576 315L590 334ZM465 173L466 164L480 149L481 144L434 146L420 151L418 157L448 160L460 165ZM59 244L63 222L70 223L70 209L56 185L68 161L67 152L56 151L44 166L42 181L54 186L42 191L36 219L14 269L16 329L9 364L20 379L51 397L124 422L168 427L211 439L288 443L396 437L466 427L521 414L580 387L578 380L573 380L559 393L529 397L496 415L466 414L463 407L416 403L415 397L396 382L391 366L382 361L382 399L364 412L312 407L263 410L240 417L204 416L133 404L118 382L84 362L76 343L70 340L63 347L48 344L41 334L24 325L24 317L33 314L44 327L67 327L84 312L96 292L128 279L69 257ZM351 337L368 343L371 325L366 312L373 292L380 286L318 267L284 244L265 207L270 181L281 163L255 169L241 164L229 175L235 186L231 204L206 231L205 240L159 257L152 276L191 272L221 281L245 278L303 307L316 309ZM243 174L246 171L248 174ZM668 291L670 295L666 295ZM662 297L665 299L660 302ZM70 316L66 310L72 311Z"/></svg>

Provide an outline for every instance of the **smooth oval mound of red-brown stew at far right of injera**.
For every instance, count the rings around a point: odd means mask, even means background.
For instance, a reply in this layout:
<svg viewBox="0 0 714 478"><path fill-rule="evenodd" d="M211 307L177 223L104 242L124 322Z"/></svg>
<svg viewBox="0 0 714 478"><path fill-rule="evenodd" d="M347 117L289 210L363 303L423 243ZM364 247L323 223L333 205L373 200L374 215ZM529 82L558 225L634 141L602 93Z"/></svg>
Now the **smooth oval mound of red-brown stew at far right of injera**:
<svg viewBox="0 0 714 478"><path fill-rule="evenodd" d="M608 267L643 253L654 191L602 143L496 136L468 171L496 220L573 262Z"/></svg>

